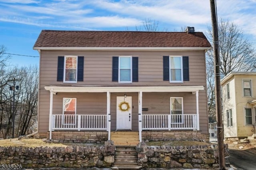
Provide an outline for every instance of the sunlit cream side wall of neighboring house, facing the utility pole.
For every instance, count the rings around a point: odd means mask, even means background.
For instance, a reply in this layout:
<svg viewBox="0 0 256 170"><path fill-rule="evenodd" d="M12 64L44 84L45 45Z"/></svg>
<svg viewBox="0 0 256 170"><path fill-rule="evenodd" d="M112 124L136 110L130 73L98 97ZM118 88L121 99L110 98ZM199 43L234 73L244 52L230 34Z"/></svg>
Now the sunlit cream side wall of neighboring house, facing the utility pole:
<svg viewBox="0 0 256 170"><path fill-rule="evenodd" d="M230 99L227 99L227 84L229 83L229 94ZM236 93L235 93L235 80L232 78L226 84L222 85L222 112L223 112L223 126L224 126L224 137L236 137L237 126L236 126ZM227 114L226 111L232 109L232 126L227 127Z"/></svg>

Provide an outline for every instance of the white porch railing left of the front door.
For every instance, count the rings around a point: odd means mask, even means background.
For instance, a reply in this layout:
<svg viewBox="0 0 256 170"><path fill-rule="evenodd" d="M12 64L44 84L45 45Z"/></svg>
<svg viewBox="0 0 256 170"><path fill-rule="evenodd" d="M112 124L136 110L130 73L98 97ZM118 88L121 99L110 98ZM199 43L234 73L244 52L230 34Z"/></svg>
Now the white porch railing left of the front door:
<svg viewBox="0 0 256 170"><path fill-rule="evenodd" d="M106 130L107 115L52 115L52 130Z"/></svg>

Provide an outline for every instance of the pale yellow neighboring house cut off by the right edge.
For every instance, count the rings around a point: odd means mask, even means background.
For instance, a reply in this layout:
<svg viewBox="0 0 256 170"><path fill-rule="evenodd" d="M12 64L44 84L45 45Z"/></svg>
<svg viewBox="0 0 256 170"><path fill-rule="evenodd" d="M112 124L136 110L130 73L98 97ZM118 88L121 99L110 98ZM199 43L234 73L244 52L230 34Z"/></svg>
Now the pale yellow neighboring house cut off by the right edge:
<svg viewBox="0 0 256 170"><path fill-rule="evenodd" d="M220 82L225 139L255 134L256 72L230 72Z"/></svg>

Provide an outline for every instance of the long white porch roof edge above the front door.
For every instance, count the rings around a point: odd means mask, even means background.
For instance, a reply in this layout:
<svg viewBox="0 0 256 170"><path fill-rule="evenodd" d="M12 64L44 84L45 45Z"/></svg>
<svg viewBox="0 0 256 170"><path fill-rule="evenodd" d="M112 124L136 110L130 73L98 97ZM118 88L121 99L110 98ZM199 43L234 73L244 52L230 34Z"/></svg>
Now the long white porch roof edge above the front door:
<svg viewBox="0 0 256 170"><path fill-rule="evenodd" d="M51 92L197 92L204 86L44 86Z"/></svg>

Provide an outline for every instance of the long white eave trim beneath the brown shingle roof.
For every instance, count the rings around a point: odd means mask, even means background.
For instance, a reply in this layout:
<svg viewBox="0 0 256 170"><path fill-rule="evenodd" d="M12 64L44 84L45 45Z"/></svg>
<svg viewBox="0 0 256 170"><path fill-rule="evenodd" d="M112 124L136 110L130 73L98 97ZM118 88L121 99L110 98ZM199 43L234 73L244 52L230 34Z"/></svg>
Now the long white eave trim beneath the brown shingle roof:
<svg viewBox="0 0 256 170"><path fill-rule="evenodd" d="M207 51L212 47L33 47L34 50L80 51Z"/></svg>

